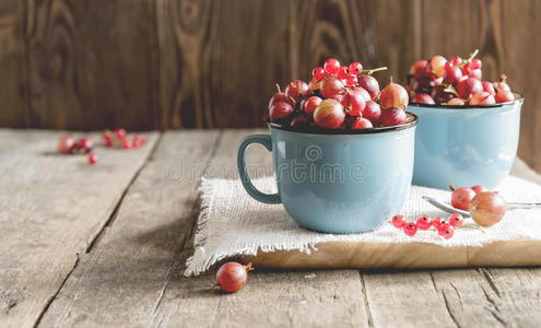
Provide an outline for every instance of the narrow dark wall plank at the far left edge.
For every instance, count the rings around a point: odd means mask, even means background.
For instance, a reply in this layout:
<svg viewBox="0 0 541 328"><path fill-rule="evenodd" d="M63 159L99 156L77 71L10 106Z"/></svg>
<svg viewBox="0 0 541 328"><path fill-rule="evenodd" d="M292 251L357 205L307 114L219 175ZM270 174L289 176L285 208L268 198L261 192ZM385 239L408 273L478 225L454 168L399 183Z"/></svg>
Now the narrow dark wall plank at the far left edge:
<svg viewBox="0 0 541 328"><path fill-rule="evenodd" d="M24 60L24 5L22 1L0 2L0 126L28 126Z"/></svg>

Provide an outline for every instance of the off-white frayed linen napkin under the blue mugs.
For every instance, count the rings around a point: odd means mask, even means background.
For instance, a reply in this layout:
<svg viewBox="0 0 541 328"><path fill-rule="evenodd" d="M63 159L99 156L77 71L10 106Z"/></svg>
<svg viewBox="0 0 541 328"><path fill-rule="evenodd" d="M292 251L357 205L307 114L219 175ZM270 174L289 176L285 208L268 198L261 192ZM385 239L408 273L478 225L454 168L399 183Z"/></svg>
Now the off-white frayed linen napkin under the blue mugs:
<svg viewBox="0 0 541 328"><path fill-rule="evenodd" d="M262 191L275 192L274 177L254 180ZM541 202L541 186L509 176L499 187L507 202ZM450 192L412 186L408 200L400 212L407 220L421 214L444 216L421 196L432 196L447 201ZM235 256L274 250L317 250L316 245L327 242L373 243L430 243L444 247L483 246L497 241L530 238L541 241L541 209L516 209L507 211L498 224L485 229L463 229L450 239L435 232L419 231L412 238L391 224L363 234L336 235L305 230L289 216L282 204L266 204L246 194L240 180L205 179L200 187L201 213L195 236L195 253L187 261L185 276L199 274L213 263ZM389 218L390 219L390 218ZM466 223L473 223L467 219Z"/></svg>

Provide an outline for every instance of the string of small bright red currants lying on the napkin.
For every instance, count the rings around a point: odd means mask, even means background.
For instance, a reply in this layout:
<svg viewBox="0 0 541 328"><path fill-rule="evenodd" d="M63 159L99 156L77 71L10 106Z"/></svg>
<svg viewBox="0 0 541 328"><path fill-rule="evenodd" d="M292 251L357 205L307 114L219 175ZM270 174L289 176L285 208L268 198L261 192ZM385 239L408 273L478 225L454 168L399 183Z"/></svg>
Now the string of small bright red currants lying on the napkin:
<svg viewBox="0 0 541 328"><path fill-rule="evenodd" d="M417 218L415 222L407 222L400 214L392 216L391 223L395 227L403 230L404 234L412 237L417 233L417 230L431 230L437 231L438 235L449 239L455 235L455 229L463 225L464 219L458 213L450 214L447 220L442 216L437 216L434 220L426 214Z"/></svg>

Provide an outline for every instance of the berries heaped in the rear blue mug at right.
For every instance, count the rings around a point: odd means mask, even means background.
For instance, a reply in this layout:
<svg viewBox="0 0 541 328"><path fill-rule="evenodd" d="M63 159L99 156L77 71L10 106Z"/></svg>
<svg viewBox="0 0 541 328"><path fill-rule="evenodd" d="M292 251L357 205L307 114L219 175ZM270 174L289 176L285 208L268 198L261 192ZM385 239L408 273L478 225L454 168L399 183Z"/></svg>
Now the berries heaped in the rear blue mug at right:
<svg viewBox="0 0 541 328"><path fill-rule="evenodd" d="M499 82L481 81L482 62L475 58L479 50L468 59L452 57L447 61L436 55L430 60L419 60L408 75L412 103L445 105L493 105L515 101L515 94L502 74Z"/></svg>

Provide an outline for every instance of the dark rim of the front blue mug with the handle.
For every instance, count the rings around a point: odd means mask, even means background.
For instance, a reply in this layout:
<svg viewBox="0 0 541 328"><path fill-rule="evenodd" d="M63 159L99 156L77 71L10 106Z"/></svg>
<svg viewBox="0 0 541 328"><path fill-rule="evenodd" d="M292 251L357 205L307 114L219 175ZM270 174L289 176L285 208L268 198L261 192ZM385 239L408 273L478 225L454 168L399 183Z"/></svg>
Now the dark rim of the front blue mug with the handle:
<svg viewBox="0 0 541 328"><path fill-rule="evenodd" d="M277 129L277 130L282 130L282 131L289 131L289 132L295 132L295 133L309 133L309 134L342 134L342 136L354 136L354 134L373 134L373 133L385 133L385 132L392 132L392 131L400 131L400 130L407 130L415 127L419 121L419 116L411 112L405 112L408 115L411 115L413 117L412 120L398 125L398 126L390 126L390 127L377 127L377 128L365 128L365 129L356 129L356 130L345 130L345 129L329 129L329 128L321 128L321 127L316 127L316 126L307 126L307 127L297 127L297 128L292 128L291 126L283 125L283 124L278 124L278 122L272 122L270 120L267 121L267 125L271 129Z"/></svg>

